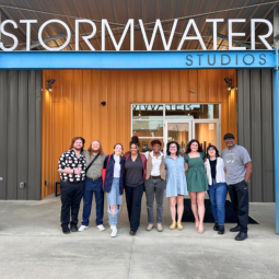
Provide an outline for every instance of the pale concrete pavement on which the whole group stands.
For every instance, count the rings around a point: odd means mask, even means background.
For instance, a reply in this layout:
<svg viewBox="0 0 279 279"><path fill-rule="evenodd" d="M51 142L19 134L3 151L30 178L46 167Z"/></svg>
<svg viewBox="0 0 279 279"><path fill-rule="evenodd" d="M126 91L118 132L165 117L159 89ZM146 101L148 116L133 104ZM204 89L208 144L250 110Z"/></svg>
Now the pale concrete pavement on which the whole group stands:
<svg viewBox="0 0 279 279"><path fill-rule="evenodd" d="M248 239L234 241L225 224L218 235L205 223L198 234L194 223L171 231L168 201L164 201L164 231L146 231L146 198L141 225L130 236L126 205L118 235L109 236L105 205L105 232L95 228L93 206L90 228L62 234L60 199L0 201L0 278L278 278L279 235L275 232L275 204L251 204ZM80 221L82 207L80 210Z"/></svg>

